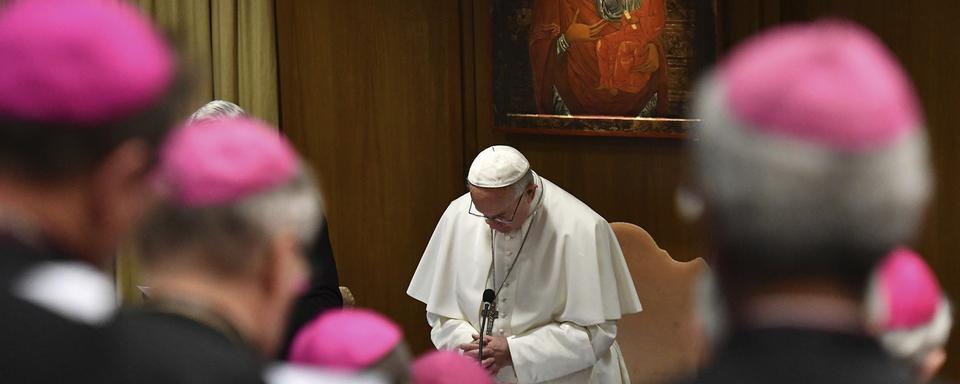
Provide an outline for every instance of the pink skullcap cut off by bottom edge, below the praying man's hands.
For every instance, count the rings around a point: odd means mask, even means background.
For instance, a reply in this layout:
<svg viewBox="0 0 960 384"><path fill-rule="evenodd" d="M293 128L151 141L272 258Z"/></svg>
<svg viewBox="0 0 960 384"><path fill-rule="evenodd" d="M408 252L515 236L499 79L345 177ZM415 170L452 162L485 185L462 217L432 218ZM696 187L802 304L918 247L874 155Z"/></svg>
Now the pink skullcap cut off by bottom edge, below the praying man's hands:
<svg viewBox="0 0 960 384"><path fill-rule="evenodd" d="M479 363L453 351L423 355L411 370L414 384L493 384Z"/></svg>

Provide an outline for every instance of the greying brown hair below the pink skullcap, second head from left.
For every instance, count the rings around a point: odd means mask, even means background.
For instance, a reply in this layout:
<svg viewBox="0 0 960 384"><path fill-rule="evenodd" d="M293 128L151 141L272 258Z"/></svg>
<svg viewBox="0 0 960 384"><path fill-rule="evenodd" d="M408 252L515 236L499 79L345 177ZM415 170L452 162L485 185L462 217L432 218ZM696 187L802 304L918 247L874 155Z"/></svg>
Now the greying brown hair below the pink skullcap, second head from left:
<svg viewBox="0 0 960 384"><path fill-rule="evenodd" d="M211 272L236 275L256 263L277 235L293 232L313 241L323 204L309 168L287 183L238 201L208 207L166 202L140 232L140 256L150 266L193 258Z"/></svg>

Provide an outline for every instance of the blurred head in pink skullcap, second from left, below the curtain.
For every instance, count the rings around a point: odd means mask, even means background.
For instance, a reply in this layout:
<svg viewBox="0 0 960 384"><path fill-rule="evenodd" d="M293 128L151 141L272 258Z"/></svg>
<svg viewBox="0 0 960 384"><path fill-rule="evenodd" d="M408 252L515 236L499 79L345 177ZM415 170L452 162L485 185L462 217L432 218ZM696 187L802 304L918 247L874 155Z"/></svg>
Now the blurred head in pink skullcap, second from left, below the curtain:
<svg viewBox="0 0 960 384"><path fill-rule="evenodd" d="M322 215L310 170L265 123L214 119L171 134L155 177L165 200L139 239L151 300L204 301L272 355Z"/></svg>

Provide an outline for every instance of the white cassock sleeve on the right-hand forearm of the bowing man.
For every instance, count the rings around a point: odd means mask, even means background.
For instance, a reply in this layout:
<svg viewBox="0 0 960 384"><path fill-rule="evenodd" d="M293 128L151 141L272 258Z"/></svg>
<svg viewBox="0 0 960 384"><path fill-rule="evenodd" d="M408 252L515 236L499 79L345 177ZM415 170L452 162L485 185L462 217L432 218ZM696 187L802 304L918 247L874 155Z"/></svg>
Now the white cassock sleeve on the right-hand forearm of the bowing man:
<svg viewBox="0 0 960 384"><path fill-rule="evenodd" d="M538 383L596 364L617 337L616 321L581 327L553 323L520 336L510 336L510 357L521 383Z"/></svg>

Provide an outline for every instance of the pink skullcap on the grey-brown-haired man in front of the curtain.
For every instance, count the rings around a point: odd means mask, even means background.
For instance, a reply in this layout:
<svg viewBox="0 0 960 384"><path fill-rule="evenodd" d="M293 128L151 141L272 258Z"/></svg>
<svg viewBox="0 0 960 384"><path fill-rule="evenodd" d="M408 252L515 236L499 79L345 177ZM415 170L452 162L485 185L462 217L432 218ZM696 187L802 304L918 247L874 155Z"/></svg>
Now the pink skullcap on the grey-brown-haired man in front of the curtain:
<svg viewBox="0 0 960 384"><path fill-rule="evenodd" d="M187 207L228 204L292 180L297 154L253 119L217 119L174 130L160 150L158 183Z"/></svg>

